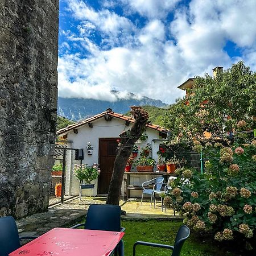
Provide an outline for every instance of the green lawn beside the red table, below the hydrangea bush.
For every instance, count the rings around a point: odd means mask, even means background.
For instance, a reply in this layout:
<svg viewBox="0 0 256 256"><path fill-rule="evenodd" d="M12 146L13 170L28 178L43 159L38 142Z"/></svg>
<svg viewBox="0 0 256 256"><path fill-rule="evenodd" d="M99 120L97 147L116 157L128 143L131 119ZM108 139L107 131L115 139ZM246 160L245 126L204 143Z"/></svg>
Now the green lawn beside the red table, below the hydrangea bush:
<svg viewBox="0 0 256 256"><path fill-rule="evenodd" d="M181 221L122 221L122 226L126 228L123 241L125 242L125 255L133 255L133 244L136 241L146 241L173 245L177 230L182 225ZM138 256L166 256L171 255L167 249L154 247L137 246L136 255ZM234 256L226 249L218 247L217 243L204 238L196 238L193 233L185 241L181 256Z"/></svg>

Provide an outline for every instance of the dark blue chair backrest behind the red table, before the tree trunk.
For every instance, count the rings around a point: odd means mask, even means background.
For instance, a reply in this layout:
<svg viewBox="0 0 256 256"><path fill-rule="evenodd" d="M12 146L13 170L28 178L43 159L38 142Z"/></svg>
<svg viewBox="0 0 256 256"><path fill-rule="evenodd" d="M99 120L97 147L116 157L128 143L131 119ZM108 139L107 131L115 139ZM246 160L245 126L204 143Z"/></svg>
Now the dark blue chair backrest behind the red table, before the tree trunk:
<svg viewBox="0 0 256 256"><path fill-rule="evenodd" d="M89 206L85 229L120 231L121 207L110 204L92 204Z"/></svg>

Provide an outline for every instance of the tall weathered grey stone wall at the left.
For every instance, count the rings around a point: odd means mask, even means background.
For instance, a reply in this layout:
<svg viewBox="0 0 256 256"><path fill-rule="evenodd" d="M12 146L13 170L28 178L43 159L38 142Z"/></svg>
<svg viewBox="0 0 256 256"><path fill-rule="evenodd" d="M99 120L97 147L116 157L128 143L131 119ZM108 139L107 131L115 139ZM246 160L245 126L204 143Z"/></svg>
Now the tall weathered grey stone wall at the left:
<svg viewBox="0 0 256 256"><path fill-rule="evenodd" d="M47 210L59 0L0 0L0 216Z"/></svg>

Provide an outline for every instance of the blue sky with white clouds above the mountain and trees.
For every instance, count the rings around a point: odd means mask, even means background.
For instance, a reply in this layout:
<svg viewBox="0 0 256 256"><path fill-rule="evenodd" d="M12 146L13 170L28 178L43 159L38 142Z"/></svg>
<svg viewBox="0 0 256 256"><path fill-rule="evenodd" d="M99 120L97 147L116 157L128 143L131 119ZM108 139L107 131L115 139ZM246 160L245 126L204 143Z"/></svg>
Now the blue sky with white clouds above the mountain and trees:
<svg viewBox="0 0 256 256"><path fill-rule="evenodd" d="M196 75L256 69L255 0L60 0L59 96L168 104Z"/></svg>

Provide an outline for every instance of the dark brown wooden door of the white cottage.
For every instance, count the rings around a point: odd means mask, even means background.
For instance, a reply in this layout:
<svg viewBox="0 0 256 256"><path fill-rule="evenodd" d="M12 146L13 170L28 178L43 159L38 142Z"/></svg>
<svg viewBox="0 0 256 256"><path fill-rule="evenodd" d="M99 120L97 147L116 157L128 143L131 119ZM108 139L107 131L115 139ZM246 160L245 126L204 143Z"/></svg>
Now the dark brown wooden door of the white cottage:
<svg viewBox="0 0 256 256"><path fill-rule="evenodd" d="M98 179L98 193L107 194L112 177L115 156L117 156L117 138L100 139L99 141L99 164L101 174Z"/></svg>

